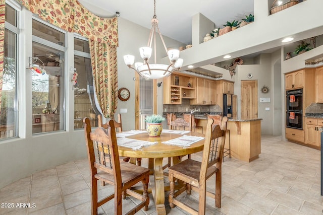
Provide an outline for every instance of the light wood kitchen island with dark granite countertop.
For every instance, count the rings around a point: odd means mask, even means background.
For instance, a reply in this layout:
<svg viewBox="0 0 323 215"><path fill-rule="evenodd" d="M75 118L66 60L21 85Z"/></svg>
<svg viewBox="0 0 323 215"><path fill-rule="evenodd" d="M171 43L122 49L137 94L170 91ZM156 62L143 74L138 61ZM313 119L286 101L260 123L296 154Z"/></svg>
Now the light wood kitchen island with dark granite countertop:
<svg viewBox="0 0 323 215"><path fill-rule="evenodd" d="M206 116L196 116L198 125L205 130ZM230 118L227 122L225 148L231 145L231 156L241 161L251 162L261 153L261 121L262 119ZM230 131L229 131L230 130ZM230 132L230 134L229 134Z"/></svg>

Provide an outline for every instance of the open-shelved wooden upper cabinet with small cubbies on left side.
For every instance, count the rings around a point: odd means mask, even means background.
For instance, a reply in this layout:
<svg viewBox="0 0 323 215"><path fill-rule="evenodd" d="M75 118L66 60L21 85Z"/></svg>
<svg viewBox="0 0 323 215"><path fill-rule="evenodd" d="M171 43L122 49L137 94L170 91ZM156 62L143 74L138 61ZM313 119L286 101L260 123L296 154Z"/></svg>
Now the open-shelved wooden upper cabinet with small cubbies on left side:
<svg viewBox="0 0 323 215"><path fill-rule="evenodd" d="M193 76L172 74L163 79L164 104L182 104L182 99L196 98L196 78Z"/></svg>

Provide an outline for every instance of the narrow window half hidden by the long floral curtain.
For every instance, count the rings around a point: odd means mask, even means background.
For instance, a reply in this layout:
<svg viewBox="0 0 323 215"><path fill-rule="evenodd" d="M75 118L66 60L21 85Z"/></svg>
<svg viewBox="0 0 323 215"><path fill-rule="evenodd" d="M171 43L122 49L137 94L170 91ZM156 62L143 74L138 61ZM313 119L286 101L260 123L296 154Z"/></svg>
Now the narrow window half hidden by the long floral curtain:
<svg viewBox="0 0 323 215"><path fill-rule="evenodd" d="M93 76L89 43L74 38L74 67L78 73L74 88L74 128L83 128L83 118L88 117L91 126L97 126L98 113L93 92Z"/></svg>

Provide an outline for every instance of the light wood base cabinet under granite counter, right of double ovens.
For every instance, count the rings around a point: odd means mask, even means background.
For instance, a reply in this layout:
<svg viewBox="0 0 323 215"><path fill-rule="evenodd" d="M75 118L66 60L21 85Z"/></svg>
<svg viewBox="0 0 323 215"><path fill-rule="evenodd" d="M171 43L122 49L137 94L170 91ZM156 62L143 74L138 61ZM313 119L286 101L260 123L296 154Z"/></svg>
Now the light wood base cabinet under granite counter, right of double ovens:
<svg viewBox="0 0 323 215"><path fill-rule="evenodd" d="M321 134L318 128L323 119L305 118L305 144L320 147Z"/></svg>

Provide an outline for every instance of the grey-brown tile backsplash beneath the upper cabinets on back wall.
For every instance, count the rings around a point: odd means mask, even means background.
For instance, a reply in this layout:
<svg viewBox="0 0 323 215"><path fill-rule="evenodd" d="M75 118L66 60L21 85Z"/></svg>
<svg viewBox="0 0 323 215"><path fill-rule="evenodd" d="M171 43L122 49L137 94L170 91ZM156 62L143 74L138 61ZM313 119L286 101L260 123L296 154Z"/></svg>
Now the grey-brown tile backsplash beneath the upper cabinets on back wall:
<svg viewBox="0 0 323 215"><path fill-rule="evenodd" d="M219 105L191 105L189 99L182 99L181 105L164 104L163 112L187 112L194 108L201 112L222 112Z"/></svg>

